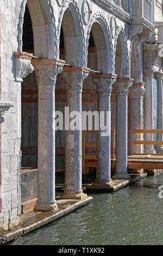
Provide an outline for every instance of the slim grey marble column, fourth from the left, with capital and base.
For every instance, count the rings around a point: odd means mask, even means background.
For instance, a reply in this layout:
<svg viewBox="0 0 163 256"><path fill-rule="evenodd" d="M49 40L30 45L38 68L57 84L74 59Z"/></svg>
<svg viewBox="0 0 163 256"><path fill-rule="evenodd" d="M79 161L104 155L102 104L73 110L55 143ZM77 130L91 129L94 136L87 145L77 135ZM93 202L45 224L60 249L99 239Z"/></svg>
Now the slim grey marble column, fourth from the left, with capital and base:
<svg viewBox="0 0 163 256"><path fill-rule="evenodd" d="M116 173L113 179L125 180L127 172L128 147L128 92L133 79L120 78L114 84L116 89Z"/></svg>

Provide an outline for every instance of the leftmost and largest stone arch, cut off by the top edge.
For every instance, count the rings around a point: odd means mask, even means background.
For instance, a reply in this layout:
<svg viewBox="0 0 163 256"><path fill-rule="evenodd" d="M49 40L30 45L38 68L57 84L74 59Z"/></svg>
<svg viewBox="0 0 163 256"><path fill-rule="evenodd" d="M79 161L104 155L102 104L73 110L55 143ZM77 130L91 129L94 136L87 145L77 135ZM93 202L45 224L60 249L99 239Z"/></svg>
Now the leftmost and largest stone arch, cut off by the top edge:
<svg viewBox="0 0 163 256"><path fill-rule="evenodd" d="M23 0L18 25L18 51L22 51L23 21L26 4L30 11L34 34L34 54L40 58L54 58L57 30L51 0ZM40 31L41 30L41 31Z"/></svg>

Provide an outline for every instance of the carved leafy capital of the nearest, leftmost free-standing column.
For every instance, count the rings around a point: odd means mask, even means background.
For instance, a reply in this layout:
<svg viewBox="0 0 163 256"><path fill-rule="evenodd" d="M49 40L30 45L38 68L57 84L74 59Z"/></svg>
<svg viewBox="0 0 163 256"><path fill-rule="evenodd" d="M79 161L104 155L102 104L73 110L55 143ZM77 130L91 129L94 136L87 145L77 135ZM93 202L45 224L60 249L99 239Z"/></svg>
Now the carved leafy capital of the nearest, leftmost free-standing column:
<svg viewBox="0 0 163 256"><path fill-rule="evenodd" d="M57 76L62 72L62 66L57 65L36 65L35 74L37 86L47 86L55 89Z"/></svg>

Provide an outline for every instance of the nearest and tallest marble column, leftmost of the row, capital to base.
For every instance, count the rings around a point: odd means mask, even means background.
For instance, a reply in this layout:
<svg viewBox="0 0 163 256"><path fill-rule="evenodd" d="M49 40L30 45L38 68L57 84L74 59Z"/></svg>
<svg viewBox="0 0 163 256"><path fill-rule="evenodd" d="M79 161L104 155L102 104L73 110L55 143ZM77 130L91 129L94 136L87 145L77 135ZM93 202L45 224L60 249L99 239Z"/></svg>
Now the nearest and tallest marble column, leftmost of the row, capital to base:
<svg viewBox="0 0 163 256"><path fill-rule="evenodd" d="M62 66L55 63L54 59L33 60L39 89L38 200L35 211L58 209L55 200L55 83Z"/></svg>

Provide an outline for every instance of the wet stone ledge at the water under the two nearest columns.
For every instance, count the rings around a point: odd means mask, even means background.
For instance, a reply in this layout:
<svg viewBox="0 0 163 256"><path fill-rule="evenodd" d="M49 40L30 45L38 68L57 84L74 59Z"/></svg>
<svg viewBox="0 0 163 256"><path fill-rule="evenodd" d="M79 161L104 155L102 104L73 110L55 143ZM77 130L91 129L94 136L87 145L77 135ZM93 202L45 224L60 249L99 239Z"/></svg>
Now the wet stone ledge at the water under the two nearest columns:
<svg viewBox="0 0 163 256"><path fill-rule="evenodd" d="M37 228L43 227L43 225L48 224L56 220L59 217L66 215L68 212L72 212L77 208L90 203L93 200L92 197L87 197L83 200L66 199L58 200L58 211L57 212L29 212L25 216L22 216L23 224L21 227L16 228L8 233L4 233L0 237L0 245L10 242L22 235L29 233Z"/></svg>

